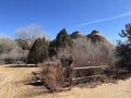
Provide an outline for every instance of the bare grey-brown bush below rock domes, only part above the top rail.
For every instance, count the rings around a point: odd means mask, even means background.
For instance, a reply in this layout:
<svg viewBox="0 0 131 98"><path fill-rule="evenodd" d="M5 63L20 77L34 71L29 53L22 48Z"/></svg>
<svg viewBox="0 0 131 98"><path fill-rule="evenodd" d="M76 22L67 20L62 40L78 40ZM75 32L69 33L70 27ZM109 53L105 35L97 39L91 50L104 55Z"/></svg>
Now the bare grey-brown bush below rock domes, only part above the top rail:
<svg viewBox="0 0 131 98"><path fill-rule="evenodd" d="M75 66L82 65L102 65L115 64L115 51L112 48L102 44L92 42L90 39L79 38L74 40L74 49L72 51Z"/></svg>

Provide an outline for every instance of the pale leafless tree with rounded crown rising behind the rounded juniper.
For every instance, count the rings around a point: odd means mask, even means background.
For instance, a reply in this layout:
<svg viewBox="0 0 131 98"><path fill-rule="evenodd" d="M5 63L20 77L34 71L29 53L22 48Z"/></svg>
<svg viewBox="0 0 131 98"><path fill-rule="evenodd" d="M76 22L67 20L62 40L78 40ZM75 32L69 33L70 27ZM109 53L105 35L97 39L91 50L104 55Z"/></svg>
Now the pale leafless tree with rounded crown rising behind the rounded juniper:
<svg viewBox="0 0 131 98"><path fill-rule="evenodd" d="M21 47L29 50L35 39L46 37L46 34L40 26L28 25L16 29L16 37Z"/></svg>

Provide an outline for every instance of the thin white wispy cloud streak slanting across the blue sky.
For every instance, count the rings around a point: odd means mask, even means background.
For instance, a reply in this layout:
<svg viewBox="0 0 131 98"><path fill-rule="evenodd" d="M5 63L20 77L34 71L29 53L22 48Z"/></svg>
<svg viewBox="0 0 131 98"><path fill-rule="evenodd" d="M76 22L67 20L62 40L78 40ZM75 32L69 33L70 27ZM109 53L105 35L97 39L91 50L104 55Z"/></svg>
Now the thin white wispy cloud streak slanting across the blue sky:
<svg viewBox="0 0 131 98"><path fill-rule="evenodd" d="M96 24L96 23L100 23L100 22L106 22L106 21L111 21L111 20L124 17L124 16L131 16L131 11L128 11L128 12L124 12L122 14L119 14L119 15L116 15L116 16L111 16L111 17L99 19L99 20L95 20L95 21L82 23L80 25L75 25L74 27L82 27L82 26L86 26L86 25L91 25L91 24Z"/></svg>

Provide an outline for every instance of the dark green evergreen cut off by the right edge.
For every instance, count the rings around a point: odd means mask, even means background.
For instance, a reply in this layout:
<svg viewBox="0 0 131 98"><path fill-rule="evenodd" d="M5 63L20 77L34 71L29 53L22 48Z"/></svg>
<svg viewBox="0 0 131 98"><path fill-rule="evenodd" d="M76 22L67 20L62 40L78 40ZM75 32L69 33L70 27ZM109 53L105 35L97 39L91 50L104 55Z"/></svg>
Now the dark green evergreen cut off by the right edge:
<svg viewBox="0 0 131 98"><path fill-rule="evenodd" d="M126 29L122 29L119 35L126 38L124 41L119 40L117 46L117 56L120 58L119 64L122 69L131 72L131 24L127 24Z"/></svg>

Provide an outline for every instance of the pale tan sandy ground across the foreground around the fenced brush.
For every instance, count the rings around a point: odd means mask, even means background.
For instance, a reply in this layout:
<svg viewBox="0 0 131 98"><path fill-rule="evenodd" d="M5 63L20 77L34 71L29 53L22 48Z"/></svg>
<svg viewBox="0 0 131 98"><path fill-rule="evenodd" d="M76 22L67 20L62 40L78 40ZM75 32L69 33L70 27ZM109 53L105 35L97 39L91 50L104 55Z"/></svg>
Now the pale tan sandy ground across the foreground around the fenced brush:
<svg viewBox="0 0 131 98"><path fill-rule="evenodd" d="M26 85L37 68L0 65L0 98L131 98L131 78L95 88L74 87L72 90L48 94L44 87Z"/></svg>

